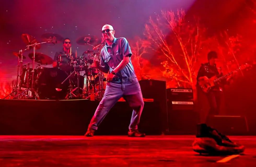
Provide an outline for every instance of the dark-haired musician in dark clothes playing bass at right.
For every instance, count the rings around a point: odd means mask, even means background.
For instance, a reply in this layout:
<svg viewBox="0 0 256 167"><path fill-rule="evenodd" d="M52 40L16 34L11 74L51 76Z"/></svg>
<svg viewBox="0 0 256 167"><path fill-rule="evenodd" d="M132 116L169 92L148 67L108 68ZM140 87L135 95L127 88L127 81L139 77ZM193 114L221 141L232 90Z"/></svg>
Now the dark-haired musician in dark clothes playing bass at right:
<svg viewBox="0 0 256 167"><path fill-rule="evenodd" d="M216 67L216 61L217 61L218 55L215 51L210 51L207 55L208 63L202 64L198 74L197 74L197 92L198 92L198 99L202 98L200 97L200 94L205 94L207 97L207 100L210 105L210 111L207 114L207 119L210 115L219 115L220 114L220 104L222 99L222 87L218 84L213 87L211 87L210 91L208 93L204 93L200 86L199 86L199 79L200 80L208 80L209 78L216 76L219 77L222 75L220 74L217 67ZM231 77L224 80L221 84L227 84L230 82ZM199 100L200 101L200 100ZM203 121L203 120L201 120ZM207 121L207 120L205 120ZM205 123L205 122L204 122Z"/></svg>

